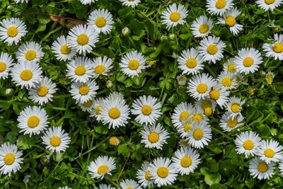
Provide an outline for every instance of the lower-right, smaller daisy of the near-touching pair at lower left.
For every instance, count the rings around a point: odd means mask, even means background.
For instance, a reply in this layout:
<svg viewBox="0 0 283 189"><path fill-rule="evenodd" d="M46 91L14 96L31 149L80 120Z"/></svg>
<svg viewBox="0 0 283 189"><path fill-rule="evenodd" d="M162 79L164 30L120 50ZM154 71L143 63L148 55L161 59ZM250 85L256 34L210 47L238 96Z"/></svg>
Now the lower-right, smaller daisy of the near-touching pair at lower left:
<svg viewBox="0 0 283 189"><path fill-rule="evenodd" d="M62 127L50 127L41 138L47 149L57 153L65 151L71 142L71 138L62 130Z"/></svg>

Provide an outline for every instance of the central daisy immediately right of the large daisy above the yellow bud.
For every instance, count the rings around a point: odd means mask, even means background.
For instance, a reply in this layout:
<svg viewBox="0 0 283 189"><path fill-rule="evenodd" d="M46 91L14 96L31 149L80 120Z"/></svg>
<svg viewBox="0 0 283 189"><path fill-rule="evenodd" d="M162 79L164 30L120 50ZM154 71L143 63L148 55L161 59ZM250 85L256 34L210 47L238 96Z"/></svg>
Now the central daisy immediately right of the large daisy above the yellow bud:
<svg viewBox="0 0 283 189"><path fill-rule="evenodd" d="M153 96L140 96L132 103L132 114L137 115L134 119L140 124L154 124L162 115L161 103Z"/></svg>

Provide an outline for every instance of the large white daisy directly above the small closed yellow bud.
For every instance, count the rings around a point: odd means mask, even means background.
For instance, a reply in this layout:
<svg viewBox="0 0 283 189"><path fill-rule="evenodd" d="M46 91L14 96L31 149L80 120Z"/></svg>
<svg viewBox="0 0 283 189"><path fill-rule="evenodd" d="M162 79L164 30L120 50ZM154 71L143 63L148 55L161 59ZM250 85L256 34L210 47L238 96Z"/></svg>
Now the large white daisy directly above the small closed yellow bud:
<svg viewBox="0 0 283 189"><path fill-rule="evenodd" d="M118 93L117 93L118 94ZM103 124L108 128L125 127L129 119L129 106L120 95L110 95L100 109Z"/></svg>

